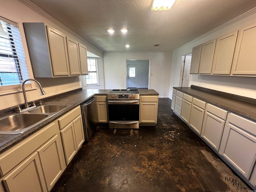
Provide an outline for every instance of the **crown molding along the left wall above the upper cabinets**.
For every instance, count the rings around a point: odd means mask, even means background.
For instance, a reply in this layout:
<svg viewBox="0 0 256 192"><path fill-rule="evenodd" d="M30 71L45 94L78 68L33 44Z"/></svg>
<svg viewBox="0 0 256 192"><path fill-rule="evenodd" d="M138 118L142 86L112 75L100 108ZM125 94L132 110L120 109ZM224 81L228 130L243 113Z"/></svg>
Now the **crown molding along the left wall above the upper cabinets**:
<svg viewBox="0 0 256 192"><path fill-rule="evenodd" d="M91 46L92 48L94 48L94 49L96 49L96 50L98 50L100 52L103 52L102 50L100 50L99 48L97 48L96 46L94 46L93 44L88 42L86 39L82 38L80 35L78 35L72 29L68 28L62 22L60 22L59 20L57 20L56 18L54 18L53 16L51 16L50 14L48 14L47 12L42 10L40 7L38 7L36 4L31 2L30 0L18 0L18 1L21 2L22 4L24 4L25 6L27 6L28 8L30 8L31 10L33 10L34 12L40 14L41 16L46 18L47 20L50 20L51 22L53 22L54 24L56 24L60 28L66 30L67 32L69 32L70 34L75 36L76 38L80 39L82 42L88 44L89 46Z"/></svg>

